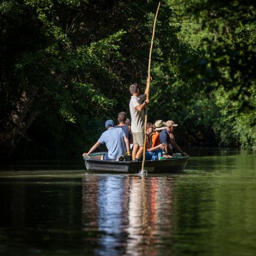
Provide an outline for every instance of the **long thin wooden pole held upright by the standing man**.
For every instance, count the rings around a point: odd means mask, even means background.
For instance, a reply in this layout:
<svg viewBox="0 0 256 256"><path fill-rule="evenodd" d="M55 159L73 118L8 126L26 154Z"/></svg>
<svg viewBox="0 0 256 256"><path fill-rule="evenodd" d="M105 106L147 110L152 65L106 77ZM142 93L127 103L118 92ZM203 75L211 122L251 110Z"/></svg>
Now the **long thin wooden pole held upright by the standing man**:
<svg viewBox="0 0 256 256"><path fill-rule="evenodd" d="M150 90L150 66L151 66L151 54L153 49L153 42L154 42L154 31L156 30L156 19L157 14L160 8L160 2L158 4L157 10L156 10L156 16L154 17L154 27L153 27L153 33L151 38L151 46L150 46L150 54L148 58L148 78L147 78L147 99L149 98L149 90ZM147 142L147 121L148 121L148 107L145 108L145 124L144 124L144 148L143 148L143 160L142 160L142 166L141 170L144 171L144 165L145 165L145 158L146 158L146 142Z"/></svg>

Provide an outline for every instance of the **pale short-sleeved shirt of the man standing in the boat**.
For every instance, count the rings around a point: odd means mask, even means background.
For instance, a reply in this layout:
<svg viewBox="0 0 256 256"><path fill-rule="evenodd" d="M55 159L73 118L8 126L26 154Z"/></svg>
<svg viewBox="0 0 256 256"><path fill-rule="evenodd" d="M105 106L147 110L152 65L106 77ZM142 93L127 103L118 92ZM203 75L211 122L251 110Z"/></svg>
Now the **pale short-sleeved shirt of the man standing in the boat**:
<svg viewBox="0 0 256 256"><path fill-rule="evenodd" d="M139 97L132 96L130 98L130 117L132 119L132 133L136 132L144 132L144 123L145 123L145 113L144 109L142 111L137 111L136 106L142 104L142 100L144 100L144 95Z"/></svg>

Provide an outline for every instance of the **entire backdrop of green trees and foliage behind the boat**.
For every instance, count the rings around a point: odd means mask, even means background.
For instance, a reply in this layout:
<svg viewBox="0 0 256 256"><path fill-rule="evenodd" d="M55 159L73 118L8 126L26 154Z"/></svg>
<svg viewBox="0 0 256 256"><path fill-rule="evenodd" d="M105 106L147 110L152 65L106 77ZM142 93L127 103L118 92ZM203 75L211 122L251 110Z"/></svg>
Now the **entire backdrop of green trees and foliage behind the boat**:
<svg viewBox="0 0 256 256"><path fill-rule="evenodd" d="M158 1L0 3L2 157L79 157L145 86ZM255 4L165 0L149 121L179 144L256 147Z"/></svg>

